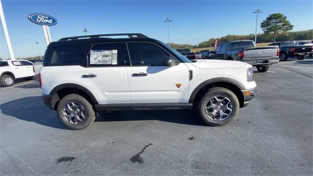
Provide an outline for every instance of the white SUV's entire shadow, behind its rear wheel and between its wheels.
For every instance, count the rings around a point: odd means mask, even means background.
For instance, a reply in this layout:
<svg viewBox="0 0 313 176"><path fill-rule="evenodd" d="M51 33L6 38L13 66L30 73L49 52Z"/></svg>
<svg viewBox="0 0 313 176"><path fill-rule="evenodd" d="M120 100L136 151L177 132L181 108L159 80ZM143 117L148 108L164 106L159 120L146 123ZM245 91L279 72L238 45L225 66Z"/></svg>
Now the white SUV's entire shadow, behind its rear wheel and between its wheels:
<svg viewBox="0 0 313 176"><path fill-rule="evenodd" d="M60 122L56 112L47 108L41 96L24 97L0 105L1 113L15 118L35 122L57 129L67 129ZM146 110L103 112L96 122L159 120L186 125L205 126L192 110Z"/></svg>

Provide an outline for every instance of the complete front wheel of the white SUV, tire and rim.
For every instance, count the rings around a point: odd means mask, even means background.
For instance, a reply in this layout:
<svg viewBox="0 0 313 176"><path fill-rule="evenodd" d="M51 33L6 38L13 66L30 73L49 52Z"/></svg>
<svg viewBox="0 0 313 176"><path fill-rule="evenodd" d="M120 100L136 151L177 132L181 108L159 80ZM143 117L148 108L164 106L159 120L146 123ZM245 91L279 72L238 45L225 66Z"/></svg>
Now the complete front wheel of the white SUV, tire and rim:
<svg viewBox="0 0 313 176"><path fill-rule="evenodd" d="M209 126L222 126L231 122L239 112L236 95L227 88L209 88L199 99L196 110Z"/></svg>

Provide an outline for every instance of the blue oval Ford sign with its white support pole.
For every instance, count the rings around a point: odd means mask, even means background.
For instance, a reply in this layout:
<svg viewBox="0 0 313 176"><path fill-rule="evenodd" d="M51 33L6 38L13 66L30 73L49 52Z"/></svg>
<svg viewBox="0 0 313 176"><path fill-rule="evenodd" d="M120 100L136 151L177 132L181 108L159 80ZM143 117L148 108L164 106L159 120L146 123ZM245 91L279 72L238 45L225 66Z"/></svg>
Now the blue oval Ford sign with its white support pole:
<svg viewBox="0 0 313 176"><path fill-rule="evenodd" d="M58 23L57 19L50 15L45 14L30 14L28 15L28 20L43 26L44 36L45 36L45 44L48 46L51 40L49 26L55 25Z"/></svg>

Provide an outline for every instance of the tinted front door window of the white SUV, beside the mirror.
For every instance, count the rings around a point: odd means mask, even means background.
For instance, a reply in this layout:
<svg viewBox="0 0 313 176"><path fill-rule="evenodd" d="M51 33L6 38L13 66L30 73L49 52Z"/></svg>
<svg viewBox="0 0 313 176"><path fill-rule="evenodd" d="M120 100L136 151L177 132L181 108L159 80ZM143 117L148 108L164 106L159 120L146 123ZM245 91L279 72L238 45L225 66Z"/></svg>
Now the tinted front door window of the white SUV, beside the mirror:
<svg viewBox="0 0 313 176"><path fill-rule="evenodd" d="M163 60L170 55L162 48L150 43L128 43L132 66L163 66Z"/></svg>

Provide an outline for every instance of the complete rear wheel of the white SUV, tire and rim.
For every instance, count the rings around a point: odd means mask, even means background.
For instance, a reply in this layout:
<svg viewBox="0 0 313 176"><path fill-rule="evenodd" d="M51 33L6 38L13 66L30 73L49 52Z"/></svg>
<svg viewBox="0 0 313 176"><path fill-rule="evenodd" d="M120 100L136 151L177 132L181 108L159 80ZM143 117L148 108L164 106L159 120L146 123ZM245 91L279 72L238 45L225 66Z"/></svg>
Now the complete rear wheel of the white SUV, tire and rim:
<svg viewBox="0 0 313 176"><path fill-rule="evenodd" d="M92 105L78 94L63 97L58 104L57 113L62 124L71 130L82 130L95 119Z"/></svg>

